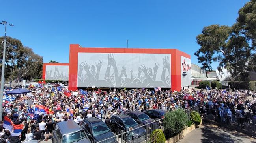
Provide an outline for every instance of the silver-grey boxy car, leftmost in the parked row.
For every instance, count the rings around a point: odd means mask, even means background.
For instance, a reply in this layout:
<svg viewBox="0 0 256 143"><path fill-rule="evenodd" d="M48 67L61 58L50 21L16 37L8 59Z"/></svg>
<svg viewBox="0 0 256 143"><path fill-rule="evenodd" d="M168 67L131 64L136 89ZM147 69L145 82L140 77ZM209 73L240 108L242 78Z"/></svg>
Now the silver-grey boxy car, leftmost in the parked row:
<svg viewBox="0 0 256 143"><path fill-rule="evenodd" d="M56 124L52 143L91 143L84 130L72 119Z"/></svg>

